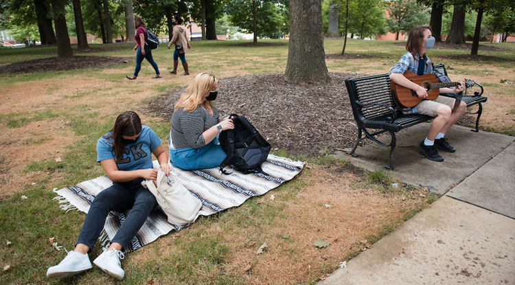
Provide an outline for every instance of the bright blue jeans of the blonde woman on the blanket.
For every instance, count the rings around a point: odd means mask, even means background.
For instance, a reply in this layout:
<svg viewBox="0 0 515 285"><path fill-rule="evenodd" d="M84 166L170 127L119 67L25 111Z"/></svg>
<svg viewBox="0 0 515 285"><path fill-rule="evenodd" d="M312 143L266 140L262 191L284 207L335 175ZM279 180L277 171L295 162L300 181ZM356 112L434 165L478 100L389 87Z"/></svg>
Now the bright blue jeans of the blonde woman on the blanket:
<svg viewBox="0 0 515 285"><path fill-rule="evenodd" d="M170 162L183 170L198 170L216 168L224 161L227 155L220 144L218 137L202 148L170 148Z"/></svg>

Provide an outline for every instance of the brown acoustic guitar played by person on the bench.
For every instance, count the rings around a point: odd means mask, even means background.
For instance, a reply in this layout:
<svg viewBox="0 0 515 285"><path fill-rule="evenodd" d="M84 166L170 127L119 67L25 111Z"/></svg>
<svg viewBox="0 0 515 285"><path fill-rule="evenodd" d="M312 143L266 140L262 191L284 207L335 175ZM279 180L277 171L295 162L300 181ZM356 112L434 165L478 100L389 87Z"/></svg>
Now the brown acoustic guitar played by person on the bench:
<svg viewBox="0 0 515 285"><path fill-rule="evenodd" d="M413 89L400 86L391 80L390 88L391 91L393 91L393 98L396 100L397 104L403 108L416 106L422 100L435 100L440 93L440 88L459 86L459 82L438 82L438 79L433 73L426 73L419 76L417 73L407 70L404 71L403 75L411 82L427 89L427 97L419 98L417 92ZM466 79L465 86L466 88L474 86L474 81Z"/></svg>

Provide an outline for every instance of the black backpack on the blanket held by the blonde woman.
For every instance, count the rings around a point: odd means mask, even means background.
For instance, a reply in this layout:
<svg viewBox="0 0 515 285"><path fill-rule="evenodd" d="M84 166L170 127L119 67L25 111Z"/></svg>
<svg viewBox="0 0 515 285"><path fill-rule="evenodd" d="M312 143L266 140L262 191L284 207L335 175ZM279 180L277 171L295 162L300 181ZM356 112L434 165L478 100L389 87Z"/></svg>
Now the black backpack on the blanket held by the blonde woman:
<svg viewBox="0 0 515 285"><path fill-rule="evenodd" d="M248 173L263 173L261 164L266 161L270 144L264 139L258 130L247 120L238 115L231 115L234 123L233 130L224 130L218 137L220 146L227 154L220 163L220 171L228 174L224 168L232 166L234 169Z"/></svg>

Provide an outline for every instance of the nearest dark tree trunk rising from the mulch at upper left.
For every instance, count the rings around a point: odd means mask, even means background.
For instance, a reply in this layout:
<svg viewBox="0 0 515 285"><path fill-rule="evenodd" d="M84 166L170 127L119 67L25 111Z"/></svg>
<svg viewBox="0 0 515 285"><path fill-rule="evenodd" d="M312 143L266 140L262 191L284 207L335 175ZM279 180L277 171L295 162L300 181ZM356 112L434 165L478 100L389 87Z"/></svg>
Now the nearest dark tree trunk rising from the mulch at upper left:
<svg viewBox="0 0 515 285"><path fill-rule="evenodd" d="M56 26L57 57L70 58L73 56L66 26L65 0L52 0L52 11L54 14L54 25Z"/></svg>

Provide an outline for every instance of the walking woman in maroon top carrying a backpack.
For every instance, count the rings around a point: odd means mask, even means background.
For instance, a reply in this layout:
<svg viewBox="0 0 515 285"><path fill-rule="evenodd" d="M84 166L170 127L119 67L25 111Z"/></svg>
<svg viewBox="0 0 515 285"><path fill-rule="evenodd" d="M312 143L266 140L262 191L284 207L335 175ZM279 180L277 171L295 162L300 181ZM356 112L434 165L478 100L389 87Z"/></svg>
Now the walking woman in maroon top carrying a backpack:
<svg viewBox="0 0 515 285"><path fill-rule="evenodd" d="M152 78L161 78L161 73L159 73L159 69L157 68L157 63L154 61L154 58L152 58L152 52L150 51L150 48L146 44L146 41L148 40L147 36L147 29L145 27L145 22L143 19L141 19L140 16L134 17L134 23L136 25L136 34L134 36L136 40L136 45L133 48L134 51L136 51L136 68L134 70L134 74L132 76L126 76L128 80L135 80L138 76L139 69L141 69L141 62L144 58L150 62L150 65L154 67L154 70L156 71L156 76Z"/></svg>

